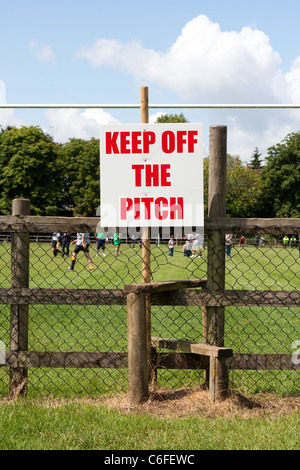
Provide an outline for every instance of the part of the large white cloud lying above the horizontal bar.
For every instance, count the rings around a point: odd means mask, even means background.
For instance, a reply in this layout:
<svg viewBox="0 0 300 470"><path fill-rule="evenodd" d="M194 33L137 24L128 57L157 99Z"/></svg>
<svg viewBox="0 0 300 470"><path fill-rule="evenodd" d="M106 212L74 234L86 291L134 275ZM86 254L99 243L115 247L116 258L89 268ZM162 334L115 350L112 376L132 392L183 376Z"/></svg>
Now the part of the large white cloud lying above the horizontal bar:
<svg viewBox="0 0 300 470"><path fill-rule="evenodd" d="M145 49L138 41L99 39L81 48L78 57L95 67L121 67L182 100L202 102L274 102L281 75L280 56L265 33L249 27L221 31L204 15L188 22L165 52Z"/></svg>

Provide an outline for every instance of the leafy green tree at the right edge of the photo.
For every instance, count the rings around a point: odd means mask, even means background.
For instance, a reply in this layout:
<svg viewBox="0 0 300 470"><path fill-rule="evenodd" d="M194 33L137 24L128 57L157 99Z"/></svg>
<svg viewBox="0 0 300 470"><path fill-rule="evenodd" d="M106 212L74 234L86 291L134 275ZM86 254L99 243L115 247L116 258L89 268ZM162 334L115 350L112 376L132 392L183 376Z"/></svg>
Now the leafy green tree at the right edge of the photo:
<svg viewBox="0 0 300 470"><path fill-rule="evenodd" d="M264 217L300 217L300 132L268 149L261 172Z"/></svg>

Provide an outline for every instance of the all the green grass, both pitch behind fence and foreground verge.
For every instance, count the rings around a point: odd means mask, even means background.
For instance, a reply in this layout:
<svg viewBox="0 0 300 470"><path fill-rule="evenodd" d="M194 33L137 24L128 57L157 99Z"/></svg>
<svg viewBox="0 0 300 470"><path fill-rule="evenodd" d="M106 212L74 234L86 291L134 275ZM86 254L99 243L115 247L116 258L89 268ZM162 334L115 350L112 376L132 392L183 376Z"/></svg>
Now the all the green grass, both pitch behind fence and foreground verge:
<svg viewBox="0 0 300 470"><path fill-rule="evenodd" d="M106 252L106 258L95 257L91 248L93 274L82 255L76 271L66 273L70 258L54 259L48 245L32 243L30 287L122 288L141 282L138 248L123 245L118 259L112 246ZM153 246L151 253L153 281L206 277L206 251L202 259L193 260L183 257L180 247L173 258L167 257L163 245ZM9 244L0 245L0 263L0 286L10 287ZM297 249L248 247L239 252L234 248L226 260L226 288L299 290L299 266ZM9 306L2 305L0 339L5 344L9 344L9 317ZM197 307L152 307L152 332L199 341L201 312ZM299 307L226 308L225 345L234 352L291 353L299 338ZM29 348L126 351L126 309L30 306ZM293 396L299 396L297 372L231 371L230 387L243 395L237 393L217 406L199 387L202 372L161 371L158 379L160 399L132 411L124 393L127 370L30 369L28 397L10 401L5 398L8 370L2 368L0 449L299 449L299 398ZM172 389L174 394L169 393ZM161 390L167 390L168 399L162 399Z"/></svg>

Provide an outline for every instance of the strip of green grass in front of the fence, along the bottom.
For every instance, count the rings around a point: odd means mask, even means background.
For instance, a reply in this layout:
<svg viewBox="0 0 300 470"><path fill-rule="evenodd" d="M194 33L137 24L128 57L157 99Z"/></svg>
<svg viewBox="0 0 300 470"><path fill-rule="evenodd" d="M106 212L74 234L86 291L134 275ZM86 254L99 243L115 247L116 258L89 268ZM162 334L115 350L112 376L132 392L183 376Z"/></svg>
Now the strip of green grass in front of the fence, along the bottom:
<svg viewBox="0 0 300 470"><path fill-rule="evenodd" d="M157 418L103 404L0 404L1 450L296 450L300 412L254 418Z"/></svg>

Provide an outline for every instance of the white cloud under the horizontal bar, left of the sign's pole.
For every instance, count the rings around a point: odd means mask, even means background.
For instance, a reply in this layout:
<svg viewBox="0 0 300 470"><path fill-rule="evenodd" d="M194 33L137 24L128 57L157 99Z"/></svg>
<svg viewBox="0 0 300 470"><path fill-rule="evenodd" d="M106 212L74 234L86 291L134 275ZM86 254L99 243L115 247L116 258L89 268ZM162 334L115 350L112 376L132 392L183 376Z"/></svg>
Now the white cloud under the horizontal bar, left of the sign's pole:
<svg viewBox="0 0 300 470"><path fill-rule="evenodd" d="M86 140L99 138L101 124L118 122L102 109L86 109L83 112L79 109L49 109L45 119L56 142L66 142L72 137Z"/></svg>

